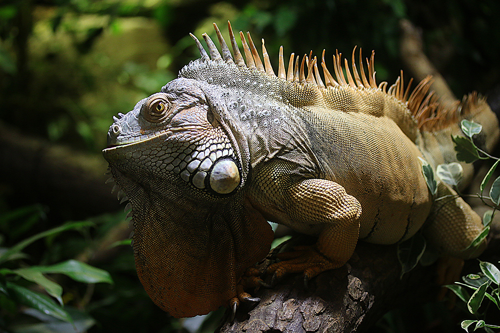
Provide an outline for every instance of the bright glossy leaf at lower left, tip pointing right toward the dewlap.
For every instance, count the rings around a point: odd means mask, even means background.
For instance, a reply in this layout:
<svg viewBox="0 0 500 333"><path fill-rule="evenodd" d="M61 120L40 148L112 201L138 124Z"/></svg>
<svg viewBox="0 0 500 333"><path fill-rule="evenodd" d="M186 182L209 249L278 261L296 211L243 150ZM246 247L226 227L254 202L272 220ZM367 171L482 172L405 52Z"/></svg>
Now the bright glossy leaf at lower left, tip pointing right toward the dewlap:
<svg viewBox="0 0 500 333"><path fill-rule="evenodd" d="M50 266L35 266L33 270L40 273L64 274L75 281L83 283L113 283L111 276L106 271L76 260L68 260Z"/></svg>

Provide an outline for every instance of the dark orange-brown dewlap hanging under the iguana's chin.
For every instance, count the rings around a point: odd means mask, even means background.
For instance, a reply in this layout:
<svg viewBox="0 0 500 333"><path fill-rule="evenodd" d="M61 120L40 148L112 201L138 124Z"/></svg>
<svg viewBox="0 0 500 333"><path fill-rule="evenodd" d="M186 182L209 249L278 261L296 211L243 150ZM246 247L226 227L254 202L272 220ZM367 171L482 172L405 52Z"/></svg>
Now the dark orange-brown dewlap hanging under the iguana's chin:
<svg viewBox="0 0 500 333"><path fill-rule="evenodd" d="M137 275L171 316L204 315L227 305L244 271L268 253L269 224L239 199L208 209L188 202L176 211L157 205L147 217L134 216Z"/></svg>

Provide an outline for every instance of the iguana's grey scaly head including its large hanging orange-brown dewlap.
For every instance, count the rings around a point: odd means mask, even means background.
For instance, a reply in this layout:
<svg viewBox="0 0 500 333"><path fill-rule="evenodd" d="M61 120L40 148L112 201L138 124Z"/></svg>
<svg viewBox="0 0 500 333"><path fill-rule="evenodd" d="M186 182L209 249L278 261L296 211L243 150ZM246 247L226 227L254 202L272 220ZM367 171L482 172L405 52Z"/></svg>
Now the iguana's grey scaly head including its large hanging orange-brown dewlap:
<svg viewBox="0 0 500 333"><path fill-rule="evenodd" d="M114 117L103 150L130 201L139 279L174 317L227 304L272 241L244 196L244 139L211 89L193 78L169 82Z"/></svg>

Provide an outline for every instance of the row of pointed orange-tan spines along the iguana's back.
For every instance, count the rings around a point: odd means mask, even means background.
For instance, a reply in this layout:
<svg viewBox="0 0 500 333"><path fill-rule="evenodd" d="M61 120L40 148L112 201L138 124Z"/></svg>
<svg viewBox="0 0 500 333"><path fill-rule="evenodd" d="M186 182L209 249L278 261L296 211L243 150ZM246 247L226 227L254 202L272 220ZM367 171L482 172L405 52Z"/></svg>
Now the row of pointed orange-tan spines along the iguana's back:
<svg viewBox="0 0 500 333"><path fill-rule="evenodd" d="M255 70L269 75L276 76L274 73L271 62L269 60L269 56L267 54L267 50L264 46L264 39L262 39L262 55L263 55L263 64L260 56L257 52L257 49L251 39L250 32L247 32L246 35L248 37L248 43L245 39L245 36L242 31L239 32L239 36L241 38L241 43L243 45L243 50L245 54L246 61L243 60L239 48L237 46L236 40L234 38L234 34L232 31L231 23L227 21L228 30L229 30L229 38L231 41L231 47L234 54L234 57L231 55L227 44L220 33L217 25L213 23L213 27L215 29L215 33L217 34L217 39L219 41L219 45L222 50L222 56L217 50L215 44L212 42L210 37L206 33L203 33L203 39L205 40L208 46L208 53L210 54L210 59L213 61L225 61L227 63L234 63L237 66L246 66L247 68L254 68ZM201 43L198 39L190 34L194 39L196 46L201 54L201 60L206 61L208 59L208 54L201 46ZM350 86L353 89L379 89L383 93L390 95L397 100L404 103L407 108L412 113L413 117L416 119L419 128L426 131L435 131L439 130L443 127L448 126L452 122L456 122L459 116L463 116L460 114L462 111L461 105L465 103L476 103L478 101L478 97L476 93L469 94L464 97L462 102L454 102L454 103L443 103L439 101L439 98L434 94L433 91L429 92L430 85L432 83L431 76L427 76L422 79L417 86L411 90L411 83L413 78L411 78L406 85L404 86L403 81L403 72L401 70L400 75L397 77L394 84L389 86L387 89L387 82L383 81L377 86L375 80L375 67L374 67L374 51L371 51L371 55L366 58L367 65L367 74L363 66L361 48L359 48L359 70L357 69L356 62L354 59L356 47L352 50L351 56L351 69L352 74L349 69L349 64L347 59L344 59L344 63L342 66L342 53L338 53L338 51L333 54L333 73L335 77L330 74L329 70L326 67L326 62L324 60L325 50L321 54L321 67L323 69L323 77L324 83L319 75L319 70L317 68L317 59L316 56L312 57L312 51L310 51L309 55L304 54L302 57L302 61L300 61L299 57L295 58L294 62L294 53L290 54L290 59L288 62L288 70L285 70L284 57L283 57L283 46L279 48L279 57L278 57L278 74L282 80L286 80L289 82L296 82L299 84L312 84L317 87L317 89L331 89L335 86L343 85ZM307 67L307 76L304 72L304 64ZM344 75L345 70L345 75ZM410 93L411 90L411 93ZM466 108L467 110L469 108Z"/></svg>

